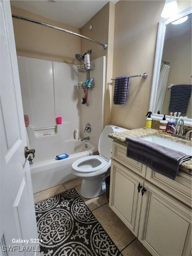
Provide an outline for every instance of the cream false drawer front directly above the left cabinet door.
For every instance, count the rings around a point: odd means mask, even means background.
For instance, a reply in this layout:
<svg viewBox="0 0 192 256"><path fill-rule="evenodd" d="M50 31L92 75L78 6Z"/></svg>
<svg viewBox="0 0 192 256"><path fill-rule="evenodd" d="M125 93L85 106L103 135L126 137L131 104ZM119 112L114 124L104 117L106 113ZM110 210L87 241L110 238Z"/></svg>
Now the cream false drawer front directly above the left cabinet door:
<svg viewBox="0 0 192 256"><path fill-rule="evenodd" d="M127 147L113 141L112 158L120 164L128 167L130 170L145 177L146 166L138 161L127 157Z"/></svg>

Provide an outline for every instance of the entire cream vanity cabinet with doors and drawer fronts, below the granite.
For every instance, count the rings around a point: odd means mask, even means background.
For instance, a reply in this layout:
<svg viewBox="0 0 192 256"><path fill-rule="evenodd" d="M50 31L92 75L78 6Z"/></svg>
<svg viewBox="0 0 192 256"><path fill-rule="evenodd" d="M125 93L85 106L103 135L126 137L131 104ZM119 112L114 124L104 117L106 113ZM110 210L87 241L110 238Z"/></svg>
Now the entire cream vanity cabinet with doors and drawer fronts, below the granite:
<svg viewBox="0 0 192 256"><path fill-rule="evenodd" d="M109 206L152 255L191 255L190 193L190 179L155 173L113 142Z"/></svg>

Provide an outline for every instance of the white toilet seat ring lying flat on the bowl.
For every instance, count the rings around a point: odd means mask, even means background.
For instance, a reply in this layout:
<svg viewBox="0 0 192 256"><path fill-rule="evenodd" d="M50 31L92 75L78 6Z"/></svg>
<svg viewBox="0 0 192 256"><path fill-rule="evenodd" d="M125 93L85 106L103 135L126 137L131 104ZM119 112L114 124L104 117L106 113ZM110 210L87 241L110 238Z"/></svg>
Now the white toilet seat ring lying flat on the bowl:
<svg viewBox="0 0 192 256"><path fill-rule="evenodd" d="M99 155L86 156L76 160L72 164L72 168L76 172L95 172L104 168L107 164L108 161Z"/></svg>

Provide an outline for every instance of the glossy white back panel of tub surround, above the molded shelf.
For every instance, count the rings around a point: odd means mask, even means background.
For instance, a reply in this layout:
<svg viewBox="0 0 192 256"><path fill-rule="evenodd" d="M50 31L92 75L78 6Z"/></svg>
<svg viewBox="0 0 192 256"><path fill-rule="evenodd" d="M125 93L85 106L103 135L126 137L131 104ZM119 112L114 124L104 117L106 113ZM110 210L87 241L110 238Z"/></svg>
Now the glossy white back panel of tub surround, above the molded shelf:
<svg viewBox="0 0 192 256"><path fill-rule="evenodd" d="M17 56L24 115L29 125L54 127L55 118L79 129L77 65ZM31 141L30 141L31 143Z"/></svg>

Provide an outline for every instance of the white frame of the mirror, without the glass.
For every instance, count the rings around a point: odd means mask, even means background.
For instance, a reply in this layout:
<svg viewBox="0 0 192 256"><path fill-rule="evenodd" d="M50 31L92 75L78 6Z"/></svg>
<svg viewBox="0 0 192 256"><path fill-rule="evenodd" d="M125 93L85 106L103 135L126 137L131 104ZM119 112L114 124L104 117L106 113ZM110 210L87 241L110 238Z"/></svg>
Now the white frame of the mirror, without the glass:
<svg viewBox="0 0 192 256"><path fill-rule="evenodd" d="M156 46L156 54L155 54L155 63L154 63L154 71L153 71L153 81L152 81L152 89L151 89L151 99L149 110L153 113L151 115L152 119L162 120L163 115L156 114L155 112L155 99L157 94L157 86L159 82L159 73L161 69L161 60L163 54L163 46L164 46L164 39L165 39L165 32L166 32L166 25L169 23L178 20L186 15L192 13L192 6L189 6L176 15L170 18L162 19L159 22L159 29L158 29L158 36L157 36L157 46ZM192 96L191 96L192 97ZM169 119L170 116L166 115L166 119ZM184 118L185 125L192 125L192 119Z"/></svg>

